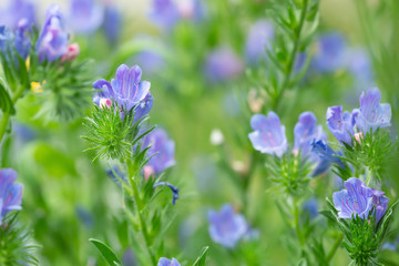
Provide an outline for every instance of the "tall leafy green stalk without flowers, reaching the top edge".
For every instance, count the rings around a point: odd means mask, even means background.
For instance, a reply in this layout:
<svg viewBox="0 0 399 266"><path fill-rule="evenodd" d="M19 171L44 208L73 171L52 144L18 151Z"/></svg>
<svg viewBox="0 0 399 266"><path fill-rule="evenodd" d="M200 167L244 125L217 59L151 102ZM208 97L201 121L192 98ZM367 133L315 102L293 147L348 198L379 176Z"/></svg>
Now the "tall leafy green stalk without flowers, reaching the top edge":
<svg viewBox="0 0 399 266"><path fill-rule="evenodd" d="M298 54L305 52L318 27L318 0L272 1L269 18L275 23L276 37L267 50L269 63L260 86L273 99L277 110L286 90L293 89L306 73L308 59L298 68Z"/></svg>

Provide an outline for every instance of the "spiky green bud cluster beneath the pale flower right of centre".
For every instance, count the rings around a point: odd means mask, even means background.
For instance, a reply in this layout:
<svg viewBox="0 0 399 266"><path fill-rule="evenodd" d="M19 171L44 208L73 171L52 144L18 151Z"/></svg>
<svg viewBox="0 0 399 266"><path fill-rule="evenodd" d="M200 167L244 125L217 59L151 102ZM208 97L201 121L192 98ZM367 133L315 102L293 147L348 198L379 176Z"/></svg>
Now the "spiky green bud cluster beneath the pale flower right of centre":
<svg viewBox="0 0 399 266"><path fill-rule="evenodd" d="M285 153L282 158L274 156L267 168L272 174L270 180L288 195L303 197L308 191L311 164L300 154Z"/></svg>

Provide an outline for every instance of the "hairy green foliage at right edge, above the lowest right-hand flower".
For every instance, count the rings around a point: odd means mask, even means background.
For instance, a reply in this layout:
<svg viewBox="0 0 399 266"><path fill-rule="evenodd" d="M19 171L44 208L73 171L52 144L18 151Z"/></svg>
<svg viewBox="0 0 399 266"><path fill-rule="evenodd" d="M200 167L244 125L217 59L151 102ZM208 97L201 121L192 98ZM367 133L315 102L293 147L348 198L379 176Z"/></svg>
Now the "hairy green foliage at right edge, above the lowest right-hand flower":
<svg viewBox="0 0 399 266"><path fill-rule="evenodd" d="M370 130L366 136L360 137L360 143L352 137L352 145L344 143L344 156L340 158L350 163L359 176L370 172L370 175L381 183L387 166L397 156L397 143L391 141L390 132L377 129ZM346 167L350 171L350 167Z"/></svg>

